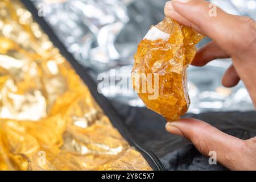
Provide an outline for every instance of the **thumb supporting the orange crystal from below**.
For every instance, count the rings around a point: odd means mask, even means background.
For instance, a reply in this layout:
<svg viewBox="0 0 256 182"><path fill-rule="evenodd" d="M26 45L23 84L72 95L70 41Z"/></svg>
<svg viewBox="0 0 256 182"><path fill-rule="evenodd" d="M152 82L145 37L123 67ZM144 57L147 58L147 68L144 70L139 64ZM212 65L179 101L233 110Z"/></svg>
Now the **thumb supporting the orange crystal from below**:
<svg viewBox="0 0 256 182"><path fill-rule="evenodd" d="M245 145L243 140L225 134L197 119L168 122L166 130L191 140L197 150L204 155L209 156L210 151L216 152L218 162L229 169L237 169L238 159L242 158L241 148Z"/></svg>

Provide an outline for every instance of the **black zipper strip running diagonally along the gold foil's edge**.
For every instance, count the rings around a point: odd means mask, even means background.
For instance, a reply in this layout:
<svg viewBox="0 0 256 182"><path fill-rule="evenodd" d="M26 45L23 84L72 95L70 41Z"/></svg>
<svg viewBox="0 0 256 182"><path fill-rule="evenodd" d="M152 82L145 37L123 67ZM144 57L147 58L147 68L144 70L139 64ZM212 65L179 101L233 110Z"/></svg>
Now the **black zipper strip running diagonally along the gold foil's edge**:
<svg viewBox="0 0 256 182"><path fill-rule="evenodd" d="M104 96L97 93L97 85L88 75L88 73L85 72L85 68L82 68L82 66L77 63L73 55L67 51L67 49L57 38L51 27L49 27L48 23L42 17L38 16L38 10L34 6L34 4L31 1L27 0L20 1L23 3L24 6L26 6L27 10L30 11L36 22L39 23L43 31L46 32L49 39L51 39L52 43L57 48L59 48L61 55L63 55L69 61L69 63L76 70L80 78L85 82L86 85L88 85L88 88L93 98L97 101L98 105L101 106L105 114L108 115L109 119L111 118L110 121L115 127L119 129L119 132L123 135L127 142L129 142L131 146L137 148L138 151L141 151L141 153L147 155L148 159L152 161L152 163L156 166L156 168L158 168L159 171L166 171L167 169L163 166L162 162L160 162L160 160L151 151L146 150L137 140L134 139L134 137L131 137L131 134L129 134L130 131L127 129L125 123L123 123L118 115L114 112L114 109L109 101Z"/></svg>

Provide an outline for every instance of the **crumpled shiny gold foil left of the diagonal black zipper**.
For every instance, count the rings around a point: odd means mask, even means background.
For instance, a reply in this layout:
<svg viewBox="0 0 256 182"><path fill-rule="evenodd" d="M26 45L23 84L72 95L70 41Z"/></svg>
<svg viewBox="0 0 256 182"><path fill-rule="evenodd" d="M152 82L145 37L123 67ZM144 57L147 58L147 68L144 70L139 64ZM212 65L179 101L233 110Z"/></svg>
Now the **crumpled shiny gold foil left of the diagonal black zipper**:
<svg viewBox="0 0 256 182"><path fill-rule="evenodd" d="M151 170L20 2L0 30L1 170Z"/></svg>

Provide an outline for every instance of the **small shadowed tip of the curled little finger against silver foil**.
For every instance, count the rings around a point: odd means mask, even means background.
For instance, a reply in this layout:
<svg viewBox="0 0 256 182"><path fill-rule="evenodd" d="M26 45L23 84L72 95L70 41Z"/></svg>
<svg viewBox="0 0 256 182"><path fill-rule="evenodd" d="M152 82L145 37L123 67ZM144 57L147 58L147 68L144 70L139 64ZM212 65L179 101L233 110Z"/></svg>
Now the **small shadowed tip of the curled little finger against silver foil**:
<svg viewBox="0 0 256 182"><path fill-rule="evenodd" d="M224 73L224 76L222 77L222 85L226 87L233 87L238 84L240 81L240 77L237 74L236 69L233 65L231 65L226 72Z"/></svg>

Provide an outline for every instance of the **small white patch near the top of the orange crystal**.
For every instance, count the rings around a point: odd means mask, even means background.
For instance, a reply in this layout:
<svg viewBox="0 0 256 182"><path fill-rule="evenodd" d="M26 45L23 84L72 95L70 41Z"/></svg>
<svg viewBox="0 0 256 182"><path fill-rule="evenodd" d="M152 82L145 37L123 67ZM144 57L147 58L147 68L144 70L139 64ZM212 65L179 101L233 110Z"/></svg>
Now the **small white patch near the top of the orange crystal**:
<svg viewBox="0 0 256 182"><path fill-rule="evenodd" d="M166 34L166 32L160 31L156 27L150 28L150 30L147 32L147 34L144 36L144 39L155 41L158 39L162 39L164 41L169 40L170 35Z"/></svg>

